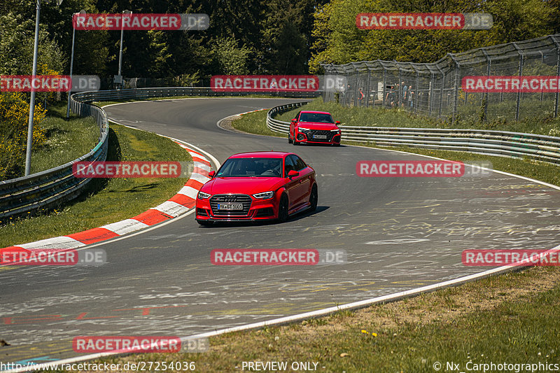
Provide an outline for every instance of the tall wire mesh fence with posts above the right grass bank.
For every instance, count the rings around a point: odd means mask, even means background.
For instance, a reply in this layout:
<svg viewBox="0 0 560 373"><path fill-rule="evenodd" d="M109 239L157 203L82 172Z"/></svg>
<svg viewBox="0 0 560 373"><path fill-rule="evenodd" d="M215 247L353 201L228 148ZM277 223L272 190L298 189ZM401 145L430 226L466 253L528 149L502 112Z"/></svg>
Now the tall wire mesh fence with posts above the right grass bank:
<svg viewBox="0 0 560 373"><path fill-rule="evenodd" d="M558 115L558 92L465 92L465 76L560 76L560 34L448 53L430 64L362 61L323 64L344 84L324 92L344 106L404 108L456 120L523 120Z"/></svg>

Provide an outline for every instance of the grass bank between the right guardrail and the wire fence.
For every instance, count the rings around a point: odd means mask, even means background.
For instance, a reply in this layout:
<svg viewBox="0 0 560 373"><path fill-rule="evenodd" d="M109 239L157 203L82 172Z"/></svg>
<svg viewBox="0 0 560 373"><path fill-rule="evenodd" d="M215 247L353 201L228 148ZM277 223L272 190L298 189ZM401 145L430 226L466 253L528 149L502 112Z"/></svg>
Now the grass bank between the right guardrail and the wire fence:
<svg viewBox="0 0 560 373"><path fill-rule="evenodd" d="M451 124L449 120L438 120L420 115L414 115L402 108L360 108L356 106L346 107L335 101L323 102L321 97L314 99L307 106L297 108L278 115L275 119L289 122L300 110L328 111L335 120L342 125L371 126L371 127L410 127L410 128L468 128L468 129L495 129L500 131L526 132L531 134L545 134L549 136L560 136L560 118L549 118L551 113L542 110L540 101L527 101L523 104L521 115L524 120L515 122L506 120L498 115L498 118L487 122L479 120L476 106L464 106L465 111L460 113L456 122ZM515 108L510 101L491 106L492 112L515 113ZM530 113L530 114L529 114Z"/></svg>

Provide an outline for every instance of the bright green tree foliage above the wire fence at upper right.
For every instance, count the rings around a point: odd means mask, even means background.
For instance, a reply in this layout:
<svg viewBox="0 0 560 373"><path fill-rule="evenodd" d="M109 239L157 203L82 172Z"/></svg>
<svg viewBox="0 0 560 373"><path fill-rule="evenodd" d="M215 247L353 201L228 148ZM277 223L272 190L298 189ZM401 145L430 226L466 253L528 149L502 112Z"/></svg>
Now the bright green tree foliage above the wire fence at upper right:
<svg viewBox="0 0 560 373"><path fill-rule="evenodd" d="M360 30L358 13L484 12L493 15L490 30ZM540 0L332 0L315 11L313 57L309 71L321 63L345 64L362 60L435 62L448 52L551 34L549 17L558 7Z"/></svg>

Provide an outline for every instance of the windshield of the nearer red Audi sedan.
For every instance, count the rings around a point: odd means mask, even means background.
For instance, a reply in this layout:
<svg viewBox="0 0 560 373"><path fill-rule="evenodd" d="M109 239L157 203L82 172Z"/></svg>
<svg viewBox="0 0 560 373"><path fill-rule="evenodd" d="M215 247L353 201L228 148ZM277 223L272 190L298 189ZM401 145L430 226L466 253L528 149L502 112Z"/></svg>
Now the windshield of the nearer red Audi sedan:
<svg viewBox="0 0 560 373"><path fill-rule="evenodd" d="M230 158L217 177L281 177L282 158Z"/></svg>

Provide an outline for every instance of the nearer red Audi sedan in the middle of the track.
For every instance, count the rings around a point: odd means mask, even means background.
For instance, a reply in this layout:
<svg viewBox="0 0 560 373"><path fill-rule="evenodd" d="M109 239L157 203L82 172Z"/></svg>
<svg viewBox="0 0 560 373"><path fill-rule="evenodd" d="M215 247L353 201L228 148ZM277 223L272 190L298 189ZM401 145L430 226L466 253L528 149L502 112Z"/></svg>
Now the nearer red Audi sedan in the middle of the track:
<svg viewBox="0 0 560 373"><path fill-rule="evenodd" d="M197 195L200 225L279 220L317 208L315 171L293 153L239 153L228 158Z"/></svg>

